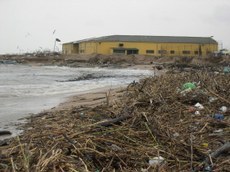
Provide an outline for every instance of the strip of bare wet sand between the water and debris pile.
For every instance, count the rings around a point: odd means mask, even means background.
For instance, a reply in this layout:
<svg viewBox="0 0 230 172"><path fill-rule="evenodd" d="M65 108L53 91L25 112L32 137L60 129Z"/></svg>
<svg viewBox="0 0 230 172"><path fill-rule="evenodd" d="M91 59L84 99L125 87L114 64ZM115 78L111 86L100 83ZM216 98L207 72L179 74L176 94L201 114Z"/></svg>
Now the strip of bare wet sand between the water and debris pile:
<svg viewBox="0 0 230 172"><path fill-rule="evenodd" d="M42 116L46 113L54 113L63 110L69 110L73 107L78 108L91 108L98 106L100 104L106 103L106 99L113 101L114 98L118 96L117 92L121 92L126 86L114 86L114 87L103 87L92 89L88 91L78 92L74 95L63 98L59 104L54 107L43 109L38 113L29 113L25 117L19 118L12 122L12 125L9 126L9 129L0 130L0 146L5 140L13 139L19 135L22 135L25 129L25 125L29 123L29 119Z"/></svg>

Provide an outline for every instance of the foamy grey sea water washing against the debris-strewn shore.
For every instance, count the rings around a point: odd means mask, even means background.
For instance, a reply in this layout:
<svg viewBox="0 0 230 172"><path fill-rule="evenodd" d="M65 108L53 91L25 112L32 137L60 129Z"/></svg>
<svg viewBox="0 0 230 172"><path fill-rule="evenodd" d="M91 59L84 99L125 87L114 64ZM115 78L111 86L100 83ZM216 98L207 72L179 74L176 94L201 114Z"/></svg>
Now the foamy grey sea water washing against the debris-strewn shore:
<svg viewBox="0 0 230 172"><path fill-rule="evenodd" d="M125 86L148 76L153 71L0 64L0 131L17 135L23 118L53 108L70 96Z"/></svg>

